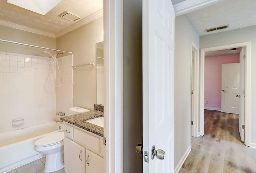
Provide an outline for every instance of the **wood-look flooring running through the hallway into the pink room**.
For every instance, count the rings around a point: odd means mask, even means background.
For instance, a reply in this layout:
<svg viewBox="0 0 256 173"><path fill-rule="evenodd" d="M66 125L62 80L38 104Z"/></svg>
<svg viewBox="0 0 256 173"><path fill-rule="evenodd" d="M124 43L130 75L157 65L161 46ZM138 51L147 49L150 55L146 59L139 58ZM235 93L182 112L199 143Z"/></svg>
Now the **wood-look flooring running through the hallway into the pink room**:
<svg viewBox="0 0 256 173"><path fill-rule="evenodd" d="M237 114L204 110L204 136L192 138L179 173L256 173L256 149L241 142L238 124Z"/></svg>

